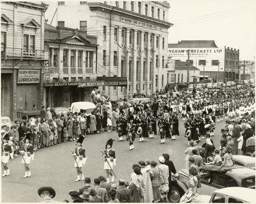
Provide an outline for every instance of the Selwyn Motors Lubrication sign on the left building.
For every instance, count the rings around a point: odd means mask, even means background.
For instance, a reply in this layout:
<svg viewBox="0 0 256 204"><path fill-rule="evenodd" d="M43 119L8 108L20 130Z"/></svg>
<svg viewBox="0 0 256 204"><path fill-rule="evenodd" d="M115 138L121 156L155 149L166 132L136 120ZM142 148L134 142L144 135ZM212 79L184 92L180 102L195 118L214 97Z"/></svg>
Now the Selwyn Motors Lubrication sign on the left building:
<svg viewBox="0 0 256 204"><path fill-rule="evenodd" d="M18 71L17 84L39 84L40 70L20 69Z"/></svg>

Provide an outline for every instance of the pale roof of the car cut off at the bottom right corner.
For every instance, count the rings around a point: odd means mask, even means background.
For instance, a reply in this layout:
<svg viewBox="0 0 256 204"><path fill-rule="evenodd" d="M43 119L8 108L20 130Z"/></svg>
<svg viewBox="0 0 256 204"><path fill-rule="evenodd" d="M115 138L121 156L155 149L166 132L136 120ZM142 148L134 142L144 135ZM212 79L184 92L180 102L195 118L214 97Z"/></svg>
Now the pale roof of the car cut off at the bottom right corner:
<svg viewBox="0 0 256 204"><path fill-rule="evenodd" d="M249 203L255 202L254 196L248 196L248 195L255 194L255 189L251 189L251 188L227 187L227 188L217 189L216 191L214 191L214 193L232 196L234 198L241 199Z"/></svg>

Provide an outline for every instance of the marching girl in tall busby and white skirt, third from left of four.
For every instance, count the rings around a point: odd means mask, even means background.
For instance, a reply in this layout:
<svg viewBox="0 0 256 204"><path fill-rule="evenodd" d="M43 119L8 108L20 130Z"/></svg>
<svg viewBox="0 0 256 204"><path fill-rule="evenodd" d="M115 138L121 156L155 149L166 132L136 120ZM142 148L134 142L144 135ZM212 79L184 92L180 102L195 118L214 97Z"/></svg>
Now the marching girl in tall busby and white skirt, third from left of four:
<svg viewBox="0 0 256 204"><path fill-rule="evenodd" d="M84 164L86 164L86 149L84 149L82 146L83 146L83 140L84 140L84 137L83 135L80 135L79 139L77 139L77 142L76 142L76 149L74 149L74 153L73 153L73 156L74 156L74 159L76 161L74 161L74 167L76 167L76 171L77 171L77 179L75 181L80 181L80 178L81 180L84 180L84 175L83 175L83 172L81 170L81 167L84 166Z"/></svg>

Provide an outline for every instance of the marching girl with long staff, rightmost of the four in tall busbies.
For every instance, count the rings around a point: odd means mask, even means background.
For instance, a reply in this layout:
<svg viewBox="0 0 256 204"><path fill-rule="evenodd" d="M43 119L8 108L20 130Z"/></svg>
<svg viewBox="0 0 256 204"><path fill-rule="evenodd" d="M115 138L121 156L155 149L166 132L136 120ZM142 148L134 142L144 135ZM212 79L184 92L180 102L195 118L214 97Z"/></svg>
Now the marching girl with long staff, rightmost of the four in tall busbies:
<svg viewBox="0 0 256 204"><path fill-rule="evenodd" d="M115 176L112 173L113 166L116 166L116 153L115 149L112 149L113 139L109 139L106 142L105 150L104 150L104 169L106 170L106 182L109 182L109 175L112 176L111 182L115 180Z"/></svg>

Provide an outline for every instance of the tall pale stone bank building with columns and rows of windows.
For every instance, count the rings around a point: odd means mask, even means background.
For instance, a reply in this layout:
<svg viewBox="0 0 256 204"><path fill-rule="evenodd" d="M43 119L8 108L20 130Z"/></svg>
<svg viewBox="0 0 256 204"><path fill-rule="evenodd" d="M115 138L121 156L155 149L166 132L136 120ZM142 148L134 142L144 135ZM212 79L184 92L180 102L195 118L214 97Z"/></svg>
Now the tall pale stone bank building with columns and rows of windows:
<svg viewBox="0 0 256 204"><path fill-rule="evenodd" d="M150 94L167 84L169 3L58 2L58 26L97 36L97 76L125 77L127 87L102 86L112 99ZM67 13L72 13L70 18ZM73 20L76 19L76 20Z"/></svg>

